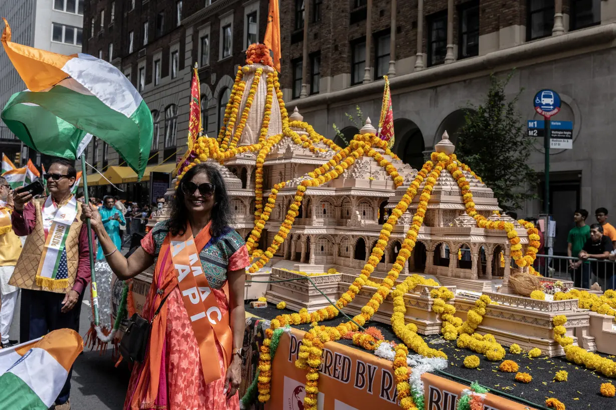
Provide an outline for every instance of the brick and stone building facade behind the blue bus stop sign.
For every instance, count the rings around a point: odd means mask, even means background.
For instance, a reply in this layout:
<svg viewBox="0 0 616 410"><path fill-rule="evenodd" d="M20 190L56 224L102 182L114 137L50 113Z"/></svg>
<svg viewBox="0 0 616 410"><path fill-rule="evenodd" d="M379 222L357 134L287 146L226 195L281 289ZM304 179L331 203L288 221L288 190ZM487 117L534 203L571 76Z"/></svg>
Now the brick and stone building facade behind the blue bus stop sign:
<svg viewBox="0 0 616 410"><path fill-rule="evenodd" d="M281 15L285 101L317 132L333 135L336 124L354 135L345 114L355 106L378 118L388 74L394 152L419 167L445 130L455 142L462 109L482 103L490 73L515 68L507 92L524 89L522 120L540 119L532 100L547 88L563 101L554 119L573 121L573 149L550 156L555 251L566 250L576 208L615 209L604 186L616 174L605 136L615 114L616 0L298 0L282 2ZM529 164L542 176L536 142ZM518 215L540 211L532 200Z"/></svg>

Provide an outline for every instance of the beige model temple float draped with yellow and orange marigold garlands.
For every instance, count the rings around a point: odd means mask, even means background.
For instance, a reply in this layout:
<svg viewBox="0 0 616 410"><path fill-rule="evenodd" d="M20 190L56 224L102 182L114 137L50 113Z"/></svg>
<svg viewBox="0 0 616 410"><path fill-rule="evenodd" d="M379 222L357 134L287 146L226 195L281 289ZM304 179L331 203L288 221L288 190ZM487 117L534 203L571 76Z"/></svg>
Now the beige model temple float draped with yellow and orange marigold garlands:
<svg viewBox="0 0 616 410"><path fill-rule="evenodd" d="M288 114L269 50L253 44L246 54L219 134L195 141L182 172L198 162L217 164L234 227L251 254L246 279L278 281L247 282L246 301L264 296L298 312L273 318L265 330L255 381L259 401L270 398L269 345L287 325L312 323L295 361L306 371L306 409L317 408L326 342L349 337L367 350L385 346L361 331L370 320L391 325L400 339L391 344L392 360L408 350L447 359L420 336L436 334L490 361L522 349L548 357L566 353L596 369L588 352L616 354L616 293L538 278L532 268L537 229L500 215L493 191L456 158L447 132L421 170L395 156L369 118L340 147L315 132L298 109ZM168 215L165 205L148 225ZM132 281L129 311L139 309L150 281L148 272ZM520 283L532 292L521 294ZM116 306L121 283L114 289ZM352 319L322 325L340 311ZM599 371L614 377L614 361L602 360ZM409 384L403 363L394 360L397 402L412 409L424 392Z"/></svg>

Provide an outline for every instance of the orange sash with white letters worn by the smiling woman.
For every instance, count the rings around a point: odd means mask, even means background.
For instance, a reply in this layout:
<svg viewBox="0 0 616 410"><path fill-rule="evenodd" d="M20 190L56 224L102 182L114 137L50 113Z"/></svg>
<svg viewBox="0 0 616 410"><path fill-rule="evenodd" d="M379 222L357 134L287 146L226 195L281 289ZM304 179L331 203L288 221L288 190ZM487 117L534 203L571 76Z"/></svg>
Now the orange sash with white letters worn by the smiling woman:
<svg viewBox="0 0 616 410"><path fill-rule="evenodd" d="M230 364L233 347L229 312L223 315L219 309L216 295L209 287L208 279L203 273L199 251L195 245L195 242L200 243L199 249L202 249L209 242L211 239L209 226L210 224L201 229L201 232L193 239L192 229L190 229L190 224L187 224L184 235L171 237L169 234L164 240L164 243L169 241L171 246L174 273L177 275L177 283L182 293L188 319L197 338L201 369L206 383L224 377L224 374L221 375L218 361L212 360L211 356L213 352L216 352L216 340L221 344L224 362L227 366Z"/></svg>

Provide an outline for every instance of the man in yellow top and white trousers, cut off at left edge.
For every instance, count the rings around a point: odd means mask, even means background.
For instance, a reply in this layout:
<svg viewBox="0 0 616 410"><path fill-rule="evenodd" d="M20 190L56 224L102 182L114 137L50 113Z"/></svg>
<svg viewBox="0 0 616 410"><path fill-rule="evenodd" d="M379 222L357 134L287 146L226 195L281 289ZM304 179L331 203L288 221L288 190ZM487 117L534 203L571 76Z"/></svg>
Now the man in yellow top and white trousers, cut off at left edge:
<svg viewBox="0 0 616 410"><path fill-rule="evenodd" d="M13 198L10 185L0 176L0 335L2 347L9 347L17 341L9 341L10 324L13 321L15 302L19 288L9 285L9 279L15 270L15 264L22 253L22 241L11 227Z"/></svg>

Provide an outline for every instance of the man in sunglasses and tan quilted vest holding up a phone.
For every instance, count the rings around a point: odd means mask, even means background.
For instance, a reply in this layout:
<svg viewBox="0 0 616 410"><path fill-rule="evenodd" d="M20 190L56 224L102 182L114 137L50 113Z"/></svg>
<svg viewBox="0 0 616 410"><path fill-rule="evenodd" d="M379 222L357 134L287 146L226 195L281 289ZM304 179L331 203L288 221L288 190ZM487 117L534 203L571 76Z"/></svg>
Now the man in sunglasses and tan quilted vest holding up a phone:
<svg viewBox="0 0 616 410"><path fill-rule="evenodd" d="M56 329L79 331L81 301L91 273L81 204L71 194L76 174L71 162L56 159L43 175L49 197L33 199L28 191L15 190L12 226L15 234L27 238L9 284L22 289L22 343ZM70 409L71 373L72 369L52 407L56 410Z"/></svg>

